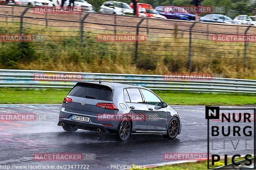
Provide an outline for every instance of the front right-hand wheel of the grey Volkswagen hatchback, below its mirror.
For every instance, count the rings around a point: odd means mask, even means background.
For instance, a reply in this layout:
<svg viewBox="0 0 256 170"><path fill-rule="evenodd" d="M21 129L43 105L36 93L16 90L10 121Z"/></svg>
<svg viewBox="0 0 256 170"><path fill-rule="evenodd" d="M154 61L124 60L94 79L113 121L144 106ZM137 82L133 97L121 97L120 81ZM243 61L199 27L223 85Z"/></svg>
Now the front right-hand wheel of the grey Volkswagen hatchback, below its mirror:
<svg viewBox="0 0 256 170"><path fill-rule="evenodd" d="M168 139L175 139L179 133L180 130L180 123L179 120L174 117L167 129L167 135L163 135L163 137L168 138Z"/></svg>

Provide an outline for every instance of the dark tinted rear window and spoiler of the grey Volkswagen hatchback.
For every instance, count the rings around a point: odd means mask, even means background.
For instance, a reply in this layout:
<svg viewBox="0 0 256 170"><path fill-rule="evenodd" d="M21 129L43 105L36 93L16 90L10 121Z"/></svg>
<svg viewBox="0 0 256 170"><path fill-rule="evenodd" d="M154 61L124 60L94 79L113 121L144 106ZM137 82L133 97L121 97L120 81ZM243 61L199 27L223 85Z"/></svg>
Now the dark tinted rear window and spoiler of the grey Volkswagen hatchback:
<svg viewBox="0 0 256 170"><path fill-rule="evenodd" d="M113 92L106 86L77 83L68 95L84 98L87 96L90 99L112 101Z"/></svg>

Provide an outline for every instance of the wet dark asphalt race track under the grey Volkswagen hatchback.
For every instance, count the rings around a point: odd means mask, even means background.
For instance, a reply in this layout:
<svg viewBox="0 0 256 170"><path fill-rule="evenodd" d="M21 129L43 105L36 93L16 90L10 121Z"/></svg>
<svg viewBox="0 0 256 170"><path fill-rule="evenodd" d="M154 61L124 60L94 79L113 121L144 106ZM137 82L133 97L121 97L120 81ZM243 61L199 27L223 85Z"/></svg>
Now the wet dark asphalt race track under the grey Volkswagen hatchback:
<svg viewBox="0 0 256 170"><path fill-rule="evenodd" d="M207 153L205 107L173 107L180 113L181 134L175 140L162 135L132 135L116 142L113 135L78 130L73 134L57 126L60 105L0 105L0 113L34 113L43 120L0 121L0 165L148 165L168 162L163 153ZM221 145L221 144L219 144ZM230 150L230 151L229 151ZM233 153L232 146L225 148ZM92 161L35 161L35 153L94 153ZM246 153L244 153L246 154ZM112 168L113 169L113 168Z"/></svg>

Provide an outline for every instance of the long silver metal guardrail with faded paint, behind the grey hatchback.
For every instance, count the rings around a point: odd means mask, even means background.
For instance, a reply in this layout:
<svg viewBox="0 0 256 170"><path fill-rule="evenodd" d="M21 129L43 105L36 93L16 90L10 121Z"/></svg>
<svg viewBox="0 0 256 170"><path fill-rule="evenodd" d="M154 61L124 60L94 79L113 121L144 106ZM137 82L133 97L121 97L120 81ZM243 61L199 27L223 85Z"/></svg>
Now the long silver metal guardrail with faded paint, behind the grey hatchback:
<svg viewBox="0 0 256 170"><path fill-rule="evenodd" d="M36 75L73 76L69 80L38 80ZM148 87L152 90L256 93L256 80L211 78L211 80L165 80L162 75L1 70L0 87L71 88L78 81L111 81Z"/></svg>

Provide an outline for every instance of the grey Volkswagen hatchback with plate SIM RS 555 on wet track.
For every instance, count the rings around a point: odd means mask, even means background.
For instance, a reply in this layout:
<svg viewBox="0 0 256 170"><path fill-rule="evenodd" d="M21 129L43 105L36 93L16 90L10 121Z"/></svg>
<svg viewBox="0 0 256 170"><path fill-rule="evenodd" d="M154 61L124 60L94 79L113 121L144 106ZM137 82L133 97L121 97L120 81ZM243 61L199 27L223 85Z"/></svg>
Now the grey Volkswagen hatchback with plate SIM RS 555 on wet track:
<svg viewBox="0 0 256 170"><path fill-rule="evenodd" d="M162 134L174 139L181 132L180 116L151 90L135 85L86 81L77 83L64 98L59 126L116 134Z"/></svg>

